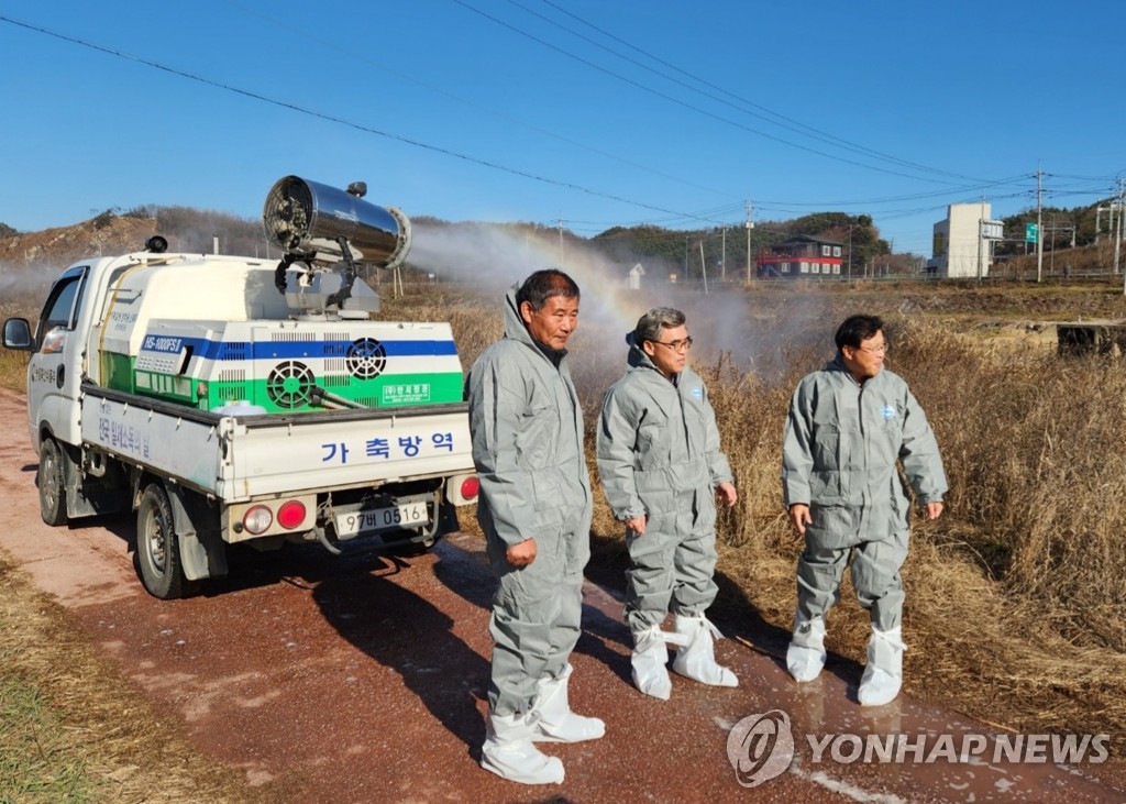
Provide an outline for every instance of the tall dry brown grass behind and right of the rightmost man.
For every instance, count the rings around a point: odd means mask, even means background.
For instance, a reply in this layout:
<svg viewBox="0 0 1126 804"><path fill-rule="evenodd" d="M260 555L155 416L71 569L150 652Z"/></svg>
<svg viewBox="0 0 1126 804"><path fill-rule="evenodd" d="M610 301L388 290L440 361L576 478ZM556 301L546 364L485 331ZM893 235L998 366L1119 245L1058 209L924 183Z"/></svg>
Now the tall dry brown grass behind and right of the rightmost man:
<svg viewBox="0 0 1126 804"><path fill-rule="evenodd" d="M946 318L983 301L974 296L944 300L945 315L884 313L890 366L927 411L951 486L946 516L917 527L904 569L906 688L1018 730L1121 734L1126 465L1115 446L1126 438L1126 375L1117 363L1057 358L1039 337L1000 347ZM1015 296L1016 310L989 298L993 314L1027 314ZM1036 296L1052 312L1065 297ZM870 301L886 309L893 298ZM1120 298L1105 301L1103 314L1120 310ZM837 320L822 324L826 334ZM721 533L721 569L785 628L798 548L780 518L777 470L796 377L761 386L721 364L709 388L744 493ZM857 606L842 606L831 631L833 650L863 656Z"/></svg>

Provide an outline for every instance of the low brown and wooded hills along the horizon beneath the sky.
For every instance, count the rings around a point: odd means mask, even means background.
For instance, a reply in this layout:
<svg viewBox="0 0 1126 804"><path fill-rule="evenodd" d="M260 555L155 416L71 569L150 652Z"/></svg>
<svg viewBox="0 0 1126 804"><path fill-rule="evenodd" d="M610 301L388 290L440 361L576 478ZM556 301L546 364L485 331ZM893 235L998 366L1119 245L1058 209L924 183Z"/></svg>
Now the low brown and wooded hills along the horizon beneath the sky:
<svg viewBox="0 0 1126 804"><path fill-rule="evenodd" d="M1067 214L1071 216L1069 220L1079 222L1075 224L1079 231L1075 241L1078 248L1067 248L1070 243L1063 240L1045 243L1039 270L1042 277L1057 280L1117 274L1112 239L1103 236L1098 243L1094 242L1092 207L1079 207L1067 211ZM1020 223L1018 218L1021 216L1006 218L1006 225L1009 229L1016 227ZM458 235L468 230L511 230L521 232L525 240L529 235L546 235L553 241L556 238L554 230L548 231L531 223L450 223L428 216L419 216L412 222L415 226L445 229ZM1087 223L1090 225L1085 225ZM26 288L38 285L41 277L36 269L41 267L50 268L47 275L53 277L59 268L81 257L138 250L154 233L167 238L173 251L209 252L218 238L220 249L224 253L269 256L259 220L191 207L138 207L128 212L108 209L89 221L39 232L17 233L0 223L0 291L10 291L14 286ZM840 213L819 213L786 222L760 222L745 239L741 232L723 229L682 231L659 226L616 226L589 239L572 232L564 234L572 245L589 247L615 263L632 265L642 261L646 266L667 266L669 270L677 270L686 263L698 266L698 254L703 252L708 266L718 269L726 263L732 271L741 274L743 266L749 263L748 247L753 259L762 249L769 249L792 234L812 234L848 242L848 253L856 276L867 277L869 271L875 271L877 276L885 278L910 277L917 274L921 259L913 254L887 253L888 244L879 238L878 229L869 216ZM1035 278L1036 256L1024 253L1027 248L1024 242L1000 242L990 270L991 277ZM1126 263L1126 253L1120 256L1120 262ZM406 268L411 269L410 262Z"/></svg>

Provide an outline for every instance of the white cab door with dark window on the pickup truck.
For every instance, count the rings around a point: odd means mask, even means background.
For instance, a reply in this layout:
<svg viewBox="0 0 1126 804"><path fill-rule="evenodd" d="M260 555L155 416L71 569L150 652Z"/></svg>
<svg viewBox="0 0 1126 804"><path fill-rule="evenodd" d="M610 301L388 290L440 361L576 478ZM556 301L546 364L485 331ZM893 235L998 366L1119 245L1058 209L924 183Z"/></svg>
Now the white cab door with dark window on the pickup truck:
<svg viewBox="0 0 1126 804"><path fill-rule="evenodd" d="M55 280L35 330L35 350L27 365L27 410L36 448L42 422L50 422L66 440L70 420L77 417L82 345L74 328L88 271L84 266L69 268Z"/></svg>

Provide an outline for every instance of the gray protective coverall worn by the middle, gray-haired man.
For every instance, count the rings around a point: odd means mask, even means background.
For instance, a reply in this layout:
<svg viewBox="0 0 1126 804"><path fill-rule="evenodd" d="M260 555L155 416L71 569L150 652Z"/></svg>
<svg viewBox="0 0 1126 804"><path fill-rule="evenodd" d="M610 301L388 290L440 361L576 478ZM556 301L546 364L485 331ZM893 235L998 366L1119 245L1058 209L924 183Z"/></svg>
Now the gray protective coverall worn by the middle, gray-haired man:
<svg viewBox="0 0 1126 804"><path fill-rule="evenodd" d="M598 473L614 516L647 515L626 534L625 619L633 632L670 610L699 616L715 600L715 486L732 480L704 381L686 367L670 382L631 338L629 372L602 401Z"/></svg>

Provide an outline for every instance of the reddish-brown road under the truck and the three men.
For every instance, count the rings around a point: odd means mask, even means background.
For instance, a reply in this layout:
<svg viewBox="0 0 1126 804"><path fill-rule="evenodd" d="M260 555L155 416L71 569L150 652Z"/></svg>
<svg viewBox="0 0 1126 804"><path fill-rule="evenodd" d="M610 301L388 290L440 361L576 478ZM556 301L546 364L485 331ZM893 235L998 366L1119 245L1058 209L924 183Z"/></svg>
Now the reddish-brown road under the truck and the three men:
<svg viewBox="0 0 1126 804"><path fill-rule="evenodd" d="M239 769L271 801L1126 798L1096 776L1102 766L1054 765L1051 743L1047 762L993 761L995 735L984 725L902 697L864 709L855 664L831 662L821 679L798 687L777 659L750 646L756 635L739 624L721 624L741 638L717 645L738 689L674 677L670 702L646 698L629 682L619 591L592 583L571 702L605 718L607 735L546 748L566 767L561 786L507 783L477 766L492 590L477 539L457 536L409 559L370 551L337 559L320 547L232 551L227 579L162 602L135 575L132 518L61 528L41 521L24 417L23 397L0 390L0 499L7 521L18 522L0 528L0 550L74 614L138 695L184 724L202 753ZM785 720L757 717L774 711ZM778 734L758 743L774 747L756 754L766 762L759 769L747 743L733 741L753 789L736 778L727 750L732 729L750 716L736 736L754 722L763 738ZM917 748L900 761L855 759L894 734ZM796 744L788 768L787 736ZM942 751L942 740L953 750ZM967 744L976 759L957 761ZM780 775L767 778L774 771Z"/></svg>

